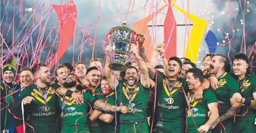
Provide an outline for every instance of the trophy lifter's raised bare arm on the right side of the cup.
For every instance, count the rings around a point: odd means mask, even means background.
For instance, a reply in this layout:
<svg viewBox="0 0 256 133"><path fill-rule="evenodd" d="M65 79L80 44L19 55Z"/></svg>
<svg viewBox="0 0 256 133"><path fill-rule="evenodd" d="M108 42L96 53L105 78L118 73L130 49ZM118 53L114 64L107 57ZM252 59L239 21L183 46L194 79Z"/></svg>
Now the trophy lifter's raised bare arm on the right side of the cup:
<svg viewBox="0 0 256 133"><path fill-rule="evenodd" d="M141 70L140 82L144 87L149 88L150 87L149 70L148 70L144 60L137 53L137 49L134 44L132 44L132 46L131 46L131 52L137 59L137 62L139 64L139 69Z"/></svg>

